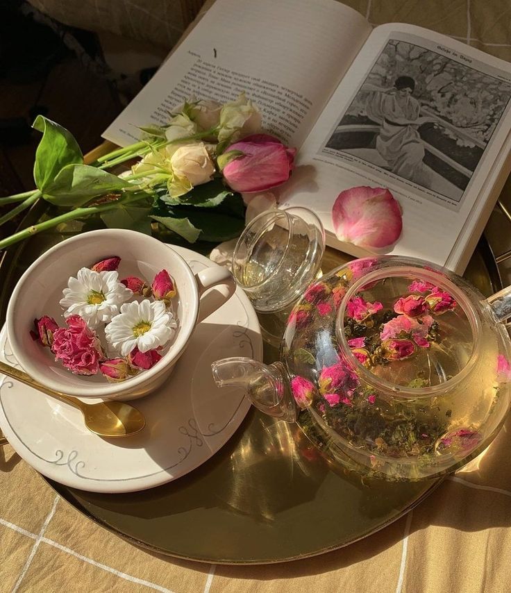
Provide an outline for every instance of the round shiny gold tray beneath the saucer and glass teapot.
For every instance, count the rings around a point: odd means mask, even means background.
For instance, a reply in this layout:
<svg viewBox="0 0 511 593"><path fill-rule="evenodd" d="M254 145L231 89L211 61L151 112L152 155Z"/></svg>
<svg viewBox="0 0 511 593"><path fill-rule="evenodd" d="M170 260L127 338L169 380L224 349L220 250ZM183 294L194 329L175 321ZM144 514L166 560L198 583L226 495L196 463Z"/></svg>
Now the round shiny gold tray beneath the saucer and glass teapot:
<svg viewBox="0 0 511 593"><path fill-rule="evenodd" d="M38 204L23 226L47 216L50 208ZM492 224L488 228L494 228L498 239L505 222ZM92 228L101 228L101 222L73 222L3 254L1 323L24 269L52 244ZM327 249L322 269L326 272L347 259ZM485 295L501 288L484 237L465 276ZM276 356L267 345L266 362ZM262 564L314 556L371 535L420 503L439 480L362 479L321 457L298 426L252 409L219 453L167 485L131 494L95 494L49 483L84 515L137 545L201 562Z"/></svg>

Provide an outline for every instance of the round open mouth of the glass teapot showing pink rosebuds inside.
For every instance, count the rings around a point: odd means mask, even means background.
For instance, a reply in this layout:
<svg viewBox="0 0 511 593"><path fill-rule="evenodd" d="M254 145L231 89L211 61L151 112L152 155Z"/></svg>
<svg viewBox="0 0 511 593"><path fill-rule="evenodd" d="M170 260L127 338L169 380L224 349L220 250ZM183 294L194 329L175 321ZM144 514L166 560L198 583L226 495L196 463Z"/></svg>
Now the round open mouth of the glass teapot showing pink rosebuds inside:
<svg viewBox="0 0 511 593"><path fill-rule="evenodd" d="M340 354L369 385L401 396L432 396L474 365L480 319L449 278L400 265L353 282L335 332Z"/></svg>

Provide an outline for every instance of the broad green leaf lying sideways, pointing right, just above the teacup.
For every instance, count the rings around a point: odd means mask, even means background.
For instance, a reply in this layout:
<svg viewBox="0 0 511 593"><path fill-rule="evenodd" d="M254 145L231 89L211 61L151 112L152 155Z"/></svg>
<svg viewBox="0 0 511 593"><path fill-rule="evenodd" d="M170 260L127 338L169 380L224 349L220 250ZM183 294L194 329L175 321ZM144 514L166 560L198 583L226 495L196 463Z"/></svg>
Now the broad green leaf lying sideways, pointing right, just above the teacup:
<svg viewBox="0 0 511 593"><path fill-rule="evenodd" d="M83 206L90 199L133 187L117 175L88 165L67 165L43 192L56 206Z"/></svg>

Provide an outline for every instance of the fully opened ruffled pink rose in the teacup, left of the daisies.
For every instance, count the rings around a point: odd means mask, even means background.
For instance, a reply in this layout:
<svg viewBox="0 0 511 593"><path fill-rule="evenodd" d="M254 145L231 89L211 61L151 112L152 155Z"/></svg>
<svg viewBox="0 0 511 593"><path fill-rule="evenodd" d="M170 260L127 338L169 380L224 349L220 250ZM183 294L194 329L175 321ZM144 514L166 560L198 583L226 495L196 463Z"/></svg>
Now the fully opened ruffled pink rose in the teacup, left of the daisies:
<svg viewBox="0 0 511 593"><path fill-rule="evenodd" d="M77 375L94 375L103 359L101 344L94 331L78 315L66 319L67 328L53 333L51 350L55 360Z"/></svg>

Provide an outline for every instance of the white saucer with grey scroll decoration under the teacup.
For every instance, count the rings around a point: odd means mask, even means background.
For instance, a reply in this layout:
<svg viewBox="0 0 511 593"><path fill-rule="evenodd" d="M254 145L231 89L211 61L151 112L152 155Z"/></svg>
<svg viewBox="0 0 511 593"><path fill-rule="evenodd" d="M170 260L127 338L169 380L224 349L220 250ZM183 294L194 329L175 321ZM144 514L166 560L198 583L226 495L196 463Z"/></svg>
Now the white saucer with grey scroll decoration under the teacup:
<svg viewBox="0 0 511 593"><path fill-rule="evenodd" d="M190 249L173 249L195 273L215 265ZM6 334L3 328L0 358L19 367ZM226 356L262 360L258 318L240 288L196 327L167 385L133 401L146 418L140 435L103 439L87 431L76 408L1 374L0 428L19 456L67 486L90 492L158 486L208 460L249 411L243 390L220 390L213 381L211 362Z"/></svg>

